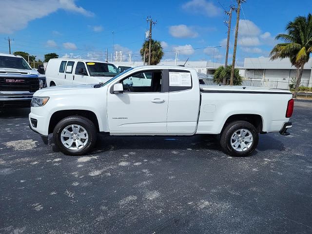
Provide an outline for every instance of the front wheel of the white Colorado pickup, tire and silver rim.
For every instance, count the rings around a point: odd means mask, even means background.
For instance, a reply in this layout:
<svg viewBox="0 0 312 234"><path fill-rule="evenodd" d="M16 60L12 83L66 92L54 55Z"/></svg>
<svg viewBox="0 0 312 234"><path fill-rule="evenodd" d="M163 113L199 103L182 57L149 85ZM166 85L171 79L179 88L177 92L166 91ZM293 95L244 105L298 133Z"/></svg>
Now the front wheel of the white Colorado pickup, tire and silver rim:
<svg viewBox="0 0 312 234"><path fill-rule="evenodd" d="M86 117L66 117L55 126L53 140L65 155L84 155L96 144L96 126Z"/></svg>

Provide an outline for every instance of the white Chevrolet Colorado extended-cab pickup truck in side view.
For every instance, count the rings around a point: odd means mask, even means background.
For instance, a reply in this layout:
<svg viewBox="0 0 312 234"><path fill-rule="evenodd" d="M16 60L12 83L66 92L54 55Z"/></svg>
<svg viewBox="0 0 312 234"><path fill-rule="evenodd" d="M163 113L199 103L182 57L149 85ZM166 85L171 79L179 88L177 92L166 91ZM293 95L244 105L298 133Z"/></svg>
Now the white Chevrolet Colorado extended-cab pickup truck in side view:
<svg viewBox="0 0 312 234"><path fill-rule="evenodd" d="M149 83L129 86L132 77ZM61 152L84 155L97 133L110 135L219 135L223 151L251 154L259 133L288 135L292 94L242 86L199 86L195 69L176 66L131 68L100 84L56 86L35 93L30 128Z"/></svg>

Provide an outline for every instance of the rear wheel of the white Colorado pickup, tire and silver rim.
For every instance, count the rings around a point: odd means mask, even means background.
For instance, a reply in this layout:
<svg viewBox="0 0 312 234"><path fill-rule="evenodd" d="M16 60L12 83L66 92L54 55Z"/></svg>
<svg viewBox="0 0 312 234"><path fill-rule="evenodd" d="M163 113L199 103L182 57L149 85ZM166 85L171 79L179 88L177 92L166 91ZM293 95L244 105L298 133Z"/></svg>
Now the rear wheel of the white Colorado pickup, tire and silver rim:
<svg viewBox="0 0 312 234"><path fill-rule="evenodd" d="M231 122L221 133L220 145L226 154L247 156L254 152L259 136L253 124L246 121Z"/></svg>

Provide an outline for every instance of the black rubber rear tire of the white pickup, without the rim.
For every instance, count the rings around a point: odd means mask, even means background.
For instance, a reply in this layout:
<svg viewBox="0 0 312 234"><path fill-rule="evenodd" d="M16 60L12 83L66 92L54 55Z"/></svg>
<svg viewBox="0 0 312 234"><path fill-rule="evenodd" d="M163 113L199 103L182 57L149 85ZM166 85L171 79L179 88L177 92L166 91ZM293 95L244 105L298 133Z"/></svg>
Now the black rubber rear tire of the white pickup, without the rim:
<svg viewBox="0 0 312 234"><path fill-rule="evenodd" d="M253 136L253 142L251 143L250 147L244 151L237 151L235 150L232 145L231 137L234 133L239 129L247 129L251 132ZM234 121L228 124L225 129L222 131L220 136L220 145L224 153L232 155L232 156L248 156L254 152L255 148L258 145L259 135L257 130L255 129L254 125L246 122L246 121ZM246 147L247 148L247 147Z"/></svg>

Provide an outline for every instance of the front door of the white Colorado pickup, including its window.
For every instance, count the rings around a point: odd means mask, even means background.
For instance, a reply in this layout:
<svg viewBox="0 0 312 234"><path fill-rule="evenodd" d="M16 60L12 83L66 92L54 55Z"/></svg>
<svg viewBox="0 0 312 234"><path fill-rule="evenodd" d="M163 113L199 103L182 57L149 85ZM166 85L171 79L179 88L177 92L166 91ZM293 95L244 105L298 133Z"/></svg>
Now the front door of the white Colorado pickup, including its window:
<svg viewBox="0 0 312 234"><path fill-rule="evenodd" d="M110 134L166 134L169 92L165 80L163 70L136 72L120 80L123 93L107 95Z"/></svg>

